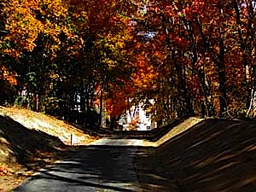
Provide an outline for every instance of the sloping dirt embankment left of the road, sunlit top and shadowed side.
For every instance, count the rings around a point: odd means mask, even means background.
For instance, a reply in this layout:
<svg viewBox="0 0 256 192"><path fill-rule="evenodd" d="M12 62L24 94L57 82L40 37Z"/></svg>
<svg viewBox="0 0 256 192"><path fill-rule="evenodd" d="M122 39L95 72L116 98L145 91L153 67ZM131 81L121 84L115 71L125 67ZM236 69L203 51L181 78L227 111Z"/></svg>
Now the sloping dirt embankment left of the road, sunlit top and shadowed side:
<svg viewBox="0 0 256 192"><path fill-rule="evenodd" d="M71 143L90 137L65 122L26 109L0 107L0 191L10 191L39 168L59 160Z"/></svg>

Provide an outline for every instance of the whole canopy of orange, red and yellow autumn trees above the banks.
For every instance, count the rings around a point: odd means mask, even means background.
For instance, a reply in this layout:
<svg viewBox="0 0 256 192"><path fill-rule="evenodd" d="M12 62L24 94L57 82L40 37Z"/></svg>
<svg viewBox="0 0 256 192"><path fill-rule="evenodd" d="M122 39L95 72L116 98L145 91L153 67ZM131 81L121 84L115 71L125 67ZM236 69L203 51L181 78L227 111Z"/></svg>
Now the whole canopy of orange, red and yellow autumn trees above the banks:
<svg viewBox="0 0 256 192"><path fill-rule="evenodd" d="M55 115L64 115L63 106L76 109L79 96L81 111L91 113L98 103L97 113L107 108L113 121L148 99L155 104L145 108L158 121L254 117L253 0L1 0L0 6L0 66L17 81L4 81L2 103L26 89L32 106L38 99L37 110ZM10 86L15 93L8 94Z"/></svg>

